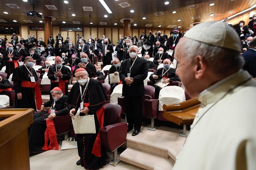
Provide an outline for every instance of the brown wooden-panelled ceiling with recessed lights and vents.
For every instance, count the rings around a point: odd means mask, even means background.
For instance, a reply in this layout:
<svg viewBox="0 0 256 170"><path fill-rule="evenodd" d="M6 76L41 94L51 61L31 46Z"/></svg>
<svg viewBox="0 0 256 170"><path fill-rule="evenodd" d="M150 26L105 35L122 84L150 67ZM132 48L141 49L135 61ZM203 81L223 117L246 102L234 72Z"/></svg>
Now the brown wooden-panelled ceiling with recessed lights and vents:
<svg viewBox="0 0 256 170"><path fill-rule="evenodd" d="M0 22L0 26L13 25L13 19L18 21L15 23L17 25L44 26L44 23L39 23L43 19L27 16L26 12L33 11L34 6L35 11L42 12L43 16L56 18L52 21L53 26L122 28L123 23L120 22L120 19L133 18L134 22L131 23L131 28L158 29L158 26L162 25L161 29L171 30L172 28L167 28L167 26L177 25L181 26L181 30L185 30L187 27L191 27L190 24L194 22L222 20L241 10L248 9L256 3L256 0L170 0L170 4L164 5L166 0L105 0L113 12L113 14L108 14L98 0L68 1L68 4L64 4L63 0L28 0L27 3L21 0L12 0L11 3L18 5L20 9L12 9L2 3L0 19L6 20L7 23ZM131 6L122 8L118 5L124 2ZM212 2L215 5L209 6ZM198 8L189 9L188 6L193 4L198 4ZM45 5L55 5L58 10L48 10ZM84 11L83 6L92 7L93 11ZM135 12L131 13L130 10ZM177 13L173 14L173 10ZM3 11L7 11L9 14L4 14ZM156 12L163 12L164 15L156 16L154 14ZM71 16L72 13L76 16ZM211 13L214 13L214 16L210 16ZM108 18L104 17L105 14L108 15ZM201 18L192 19L197 15L200 15ZM146 17L146 19L144 20L142 17ZM181 19L181 21L178 22L177 19ZM33 23L26 23L23 20L31 20ZM63 24L62 21L66 23ZM73 21L79 21L80 24L73 24ZM90 22L93 22L93 24L90 24ZM100 25L100 22L107 22L107 25ZM114 25L114 23L117 23L117 25ZM137 26L133 26L135 23ZM145 27L146 24L153 25Z"/></svg>

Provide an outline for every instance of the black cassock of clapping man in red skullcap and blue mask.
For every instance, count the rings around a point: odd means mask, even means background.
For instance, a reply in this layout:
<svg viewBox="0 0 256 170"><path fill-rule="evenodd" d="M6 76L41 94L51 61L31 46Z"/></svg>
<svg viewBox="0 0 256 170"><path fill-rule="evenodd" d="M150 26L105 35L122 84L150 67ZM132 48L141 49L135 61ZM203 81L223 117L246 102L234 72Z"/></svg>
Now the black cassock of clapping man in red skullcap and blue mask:
<svg viewBox="0 0 256 170"><path fill-rule="evenodd" d="M57 68L57 69L56 69ZM62 66L60 68L56 67L56 66L53 66L53 67L50 67L49 68L49 71L48 71L48 78L51 80L51 88L50 88L50 91L54 88L54 87L60 87L59 85L59 82L55 82L55 77L54 77L54 72L58 72L58 69L60 70L60 72L62 73L62 78L59 77L59 80L69 80L71 78L71 72L69 70L68 67L66 66ZM52 80L54 82L52 82ZM63 91L62 91L63 92ZM64 92L63 92L64 93ZM68 95L68 82L65 82L65 95ZM52 95L50 94L50 99L51 99Z"/></svg>

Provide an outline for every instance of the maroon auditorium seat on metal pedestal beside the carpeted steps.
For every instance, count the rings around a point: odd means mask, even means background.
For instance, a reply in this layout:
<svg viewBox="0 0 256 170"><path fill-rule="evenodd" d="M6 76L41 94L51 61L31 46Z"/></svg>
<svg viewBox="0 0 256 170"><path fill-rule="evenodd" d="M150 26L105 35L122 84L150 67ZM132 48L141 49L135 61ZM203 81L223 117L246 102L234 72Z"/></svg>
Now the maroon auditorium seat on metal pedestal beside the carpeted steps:
<svg viewBox="0 0 256 170"><path fill-rule="evenodd" d="M118 104L105 104L104 109L106 126L100 129L101 144L106 150L113 152L113 159L109 164L116 165L120 162L120 160L117 159L117 148L126 141L127 124L121 123L122 108Z"/></svg>

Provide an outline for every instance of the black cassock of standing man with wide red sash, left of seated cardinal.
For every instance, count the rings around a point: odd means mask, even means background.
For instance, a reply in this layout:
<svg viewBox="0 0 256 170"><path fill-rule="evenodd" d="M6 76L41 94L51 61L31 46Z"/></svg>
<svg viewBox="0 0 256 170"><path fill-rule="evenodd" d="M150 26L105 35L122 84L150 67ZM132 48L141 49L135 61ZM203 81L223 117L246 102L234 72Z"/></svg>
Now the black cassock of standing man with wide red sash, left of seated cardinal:
<svg viewBox="0 0 256 170"><path fill-rule="evenodd" d="M38 80L36 71L31 67L29 71L32 71L35 81ZM21 81L29 81L30 74L26 69L25 65L17 67L12 74L12 81L15 90L15 108L33 108L36 111L36 102L35 102L35 89L31 87L21 87ZM17 93L22 94L22 99L18 100Z"/></svg>

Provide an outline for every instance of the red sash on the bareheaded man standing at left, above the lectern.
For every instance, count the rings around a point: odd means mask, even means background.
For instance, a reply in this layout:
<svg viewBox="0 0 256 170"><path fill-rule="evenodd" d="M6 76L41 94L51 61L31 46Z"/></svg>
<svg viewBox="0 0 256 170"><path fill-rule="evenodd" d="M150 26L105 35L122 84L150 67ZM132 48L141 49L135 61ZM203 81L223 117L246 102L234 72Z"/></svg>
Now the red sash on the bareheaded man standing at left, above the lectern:
<svg viewBox="0 0 256 170"><path fill-rule="evenodd" d="M41 91L40 91L39 86L37 85L37 83L36 82L30 82L30 81L21 81L21 87L35 88L36 108L38 110L40 110L41 106L43 104L43 101L42 101Z"/></svg>

